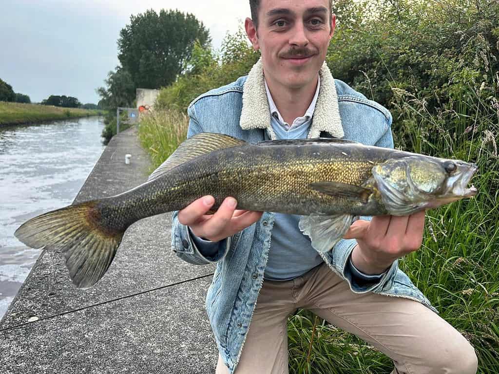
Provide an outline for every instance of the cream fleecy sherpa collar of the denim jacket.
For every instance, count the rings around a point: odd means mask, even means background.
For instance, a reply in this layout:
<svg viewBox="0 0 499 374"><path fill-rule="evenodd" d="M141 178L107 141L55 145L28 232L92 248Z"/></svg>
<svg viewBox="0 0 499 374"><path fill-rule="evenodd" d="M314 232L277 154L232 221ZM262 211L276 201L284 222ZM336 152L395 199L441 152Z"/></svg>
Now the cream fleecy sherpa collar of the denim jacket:
<svg viewBox="0 0 499 374"><path fill-rule="evenodd" d="M319 70L319 75L321 82L319 97L315 105L308 138L318 138L321 131L328 132L334 138L343 138L336 86L325 62ZM243 88L243 110L240 125L243 130L266 129L270 139L276 139L270 125L270 110L261 58L251 68Z"/></svg>

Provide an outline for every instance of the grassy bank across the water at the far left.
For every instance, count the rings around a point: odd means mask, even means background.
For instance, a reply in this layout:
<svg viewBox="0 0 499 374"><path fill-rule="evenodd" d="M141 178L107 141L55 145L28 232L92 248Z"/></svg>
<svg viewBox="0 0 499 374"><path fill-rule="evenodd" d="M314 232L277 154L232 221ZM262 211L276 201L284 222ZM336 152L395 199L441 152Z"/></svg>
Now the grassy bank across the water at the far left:
<svg viewBox="0 0 499 374"><path fill-rule="evenodd" d="M77 108L59 108L48 105L6 103L0 101L0 125L63 120L96 116L103 111Z"/></svg>

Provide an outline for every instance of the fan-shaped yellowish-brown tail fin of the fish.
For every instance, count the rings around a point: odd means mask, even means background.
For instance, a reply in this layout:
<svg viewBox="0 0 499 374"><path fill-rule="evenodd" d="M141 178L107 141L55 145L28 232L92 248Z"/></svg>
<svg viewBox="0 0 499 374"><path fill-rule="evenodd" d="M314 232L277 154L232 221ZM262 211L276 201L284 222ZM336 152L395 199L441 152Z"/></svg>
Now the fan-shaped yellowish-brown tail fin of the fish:
<svg viewBox="0 0 499 374"><path fill-rule="evenodd" d="M23 223L14 235L32 248L60 250L73 284L90 288L106 273L125 230L109 228L101 220L100 200L53 210Z"/></svg>

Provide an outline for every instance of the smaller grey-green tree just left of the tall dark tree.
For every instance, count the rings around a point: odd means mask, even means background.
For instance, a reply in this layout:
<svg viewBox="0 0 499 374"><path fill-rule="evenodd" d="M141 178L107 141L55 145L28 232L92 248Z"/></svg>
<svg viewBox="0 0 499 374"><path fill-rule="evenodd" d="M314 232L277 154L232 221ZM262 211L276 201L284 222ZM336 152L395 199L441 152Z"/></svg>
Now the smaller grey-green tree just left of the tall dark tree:
<svg viewBox="0 0 499 374"><path fill-rule="evenodd" d="M120 66L116 71L110 71L104 80L106 87L97 88L97 93L102 98L99 106L104 109L116 111L118 107L129 107L135 100L135 85L130 73Z"/></svg>

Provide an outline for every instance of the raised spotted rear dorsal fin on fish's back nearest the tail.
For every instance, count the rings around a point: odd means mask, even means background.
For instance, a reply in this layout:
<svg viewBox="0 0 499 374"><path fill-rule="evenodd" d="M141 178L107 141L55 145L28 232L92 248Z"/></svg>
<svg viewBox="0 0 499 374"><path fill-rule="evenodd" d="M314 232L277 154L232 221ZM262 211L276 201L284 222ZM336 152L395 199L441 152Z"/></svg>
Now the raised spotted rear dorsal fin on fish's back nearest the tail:
<svg viewBox="0 0 499 374"><path fill-rule="evenodd" d="M191 161L199 156L207 155L221 149L242 146L246 144L240 140L225 134L200 133L185 140L174 153L158 169L151 173L147 181L152 181L173 168Z"/></svg>

